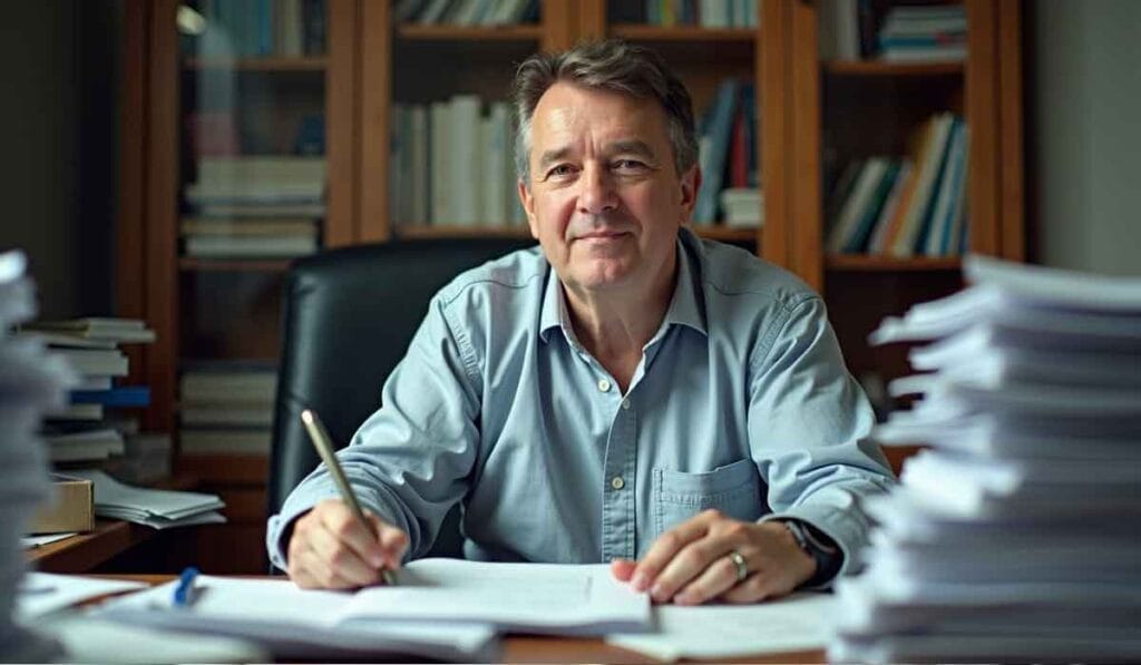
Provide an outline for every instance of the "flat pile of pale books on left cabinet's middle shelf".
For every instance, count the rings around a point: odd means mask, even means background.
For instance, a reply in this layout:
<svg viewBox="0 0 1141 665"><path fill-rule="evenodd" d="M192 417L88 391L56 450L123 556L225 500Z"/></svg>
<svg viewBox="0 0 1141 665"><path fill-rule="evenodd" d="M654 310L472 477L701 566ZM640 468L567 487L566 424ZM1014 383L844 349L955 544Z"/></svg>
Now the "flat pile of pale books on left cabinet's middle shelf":
<svg viewBox="0 0 1141 665"><path fill-rule="evenodd" d="M298 257L317 251L325 160L202 156L179 229L187 257Z"/></svg>

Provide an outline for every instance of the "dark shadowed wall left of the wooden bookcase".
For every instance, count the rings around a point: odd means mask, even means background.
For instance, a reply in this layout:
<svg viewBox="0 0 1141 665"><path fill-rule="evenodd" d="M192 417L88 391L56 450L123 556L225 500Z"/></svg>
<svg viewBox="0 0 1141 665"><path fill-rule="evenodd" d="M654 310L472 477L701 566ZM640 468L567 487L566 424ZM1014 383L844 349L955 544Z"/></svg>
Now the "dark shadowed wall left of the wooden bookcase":
<svg viewBox="0 0 1141 665"><path fill-rule="evenodd" d="M113 306L121 5L5 5L0 250L27 252L44 317Z"/></svg>

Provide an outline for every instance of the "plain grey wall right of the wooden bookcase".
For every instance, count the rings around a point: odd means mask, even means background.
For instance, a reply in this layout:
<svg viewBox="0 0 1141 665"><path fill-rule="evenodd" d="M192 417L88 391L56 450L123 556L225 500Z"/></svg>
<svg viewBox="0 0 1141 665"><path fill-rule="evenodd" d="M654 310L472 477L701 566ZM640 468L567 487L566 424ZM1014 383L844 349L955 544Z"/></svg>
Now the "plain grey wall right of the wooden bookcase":
<svg viewBox="0 0 1141 665"><path fill-rule="evenodd" d="M1027 2L1041 262L1141 275L1141 2Z"/></svg>

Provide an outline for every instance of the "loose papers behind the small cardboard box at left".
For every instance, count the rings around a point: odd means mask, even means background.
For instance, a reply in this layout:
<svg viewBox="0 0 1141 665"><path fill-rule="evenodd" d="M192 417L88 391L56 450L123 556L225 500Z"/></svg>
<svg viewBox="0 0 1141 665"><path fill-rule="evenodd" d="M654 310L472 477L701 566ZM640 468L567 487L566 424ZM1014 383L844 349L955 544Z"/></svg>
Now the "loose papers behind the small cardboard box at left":
<svg viewBox="0 0 1141 665"><path fill-rule="evenodd" d="M218 512L226 504L215 494L131 487L96 469L78 469L70 473L95 485L95 514L100 517L156 529L226 521Z"/></svg>

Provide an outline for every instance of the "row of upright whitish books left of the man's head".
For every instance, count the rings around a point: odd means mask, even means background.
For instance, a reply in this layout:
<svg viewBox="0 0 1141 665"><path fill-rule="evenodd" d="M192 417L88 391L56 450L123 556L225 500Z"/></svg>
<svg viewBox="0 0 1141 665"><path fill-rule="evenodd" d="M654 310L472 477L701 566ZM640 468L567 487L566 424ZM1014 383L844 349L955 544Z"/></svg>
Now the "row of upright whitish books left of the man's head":
<svg viewBox="0 0 1141 665"><path fill-rule="evenodd" d="M474 95L393 107L391 214L398 225L517 226L507 102Z"/></svg>

